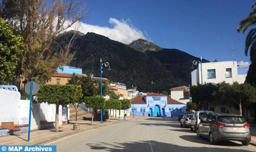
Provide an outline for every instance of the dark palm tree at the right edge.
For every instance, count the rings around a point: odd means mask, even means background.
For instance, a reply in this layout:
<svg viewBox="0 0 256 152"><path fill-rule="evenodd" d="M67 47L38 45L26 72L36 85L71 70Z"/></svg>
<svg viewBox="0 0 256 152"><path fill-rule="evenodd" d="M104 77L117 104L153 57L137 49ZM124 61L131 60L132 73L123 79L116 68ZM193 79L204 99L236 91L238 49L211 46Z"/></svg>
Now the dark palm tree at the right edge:
<svg viewBox="0 0 256 152"><path fill-rule="evenodd" d="M242 19L239 23L237 31L242 31L243 34L247 29L249 29L246 39L245 39L245 49L244 54L245 56L250 54L250 61L251 64L249 66L249 70L246 76L246 82L250 83L251 85L256 85L256 3L252 4L252 11L249 13L247 17Z"/></svg>

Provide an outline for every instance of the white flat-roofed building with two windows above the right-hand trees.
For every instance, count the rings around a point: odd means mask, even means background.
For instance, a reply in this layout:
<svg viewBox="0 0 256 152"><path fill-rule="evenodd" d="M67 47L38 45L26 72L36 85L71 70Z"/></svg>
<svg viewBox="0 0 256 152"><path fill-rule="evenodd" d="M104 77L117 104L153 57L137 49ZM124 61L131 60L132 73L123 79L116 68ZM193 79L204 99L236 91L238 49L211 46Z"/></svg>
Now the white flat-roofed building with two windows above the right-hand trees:
<svg viewBox="0 0 256 152"><path fill-rule="evenodd" d="M191 83L197 85L202 83L244 83L249 65L239 66L237 61L208 62L198 65L198 69L191 72ZM196 83L196 84L195 84Z"/></svg>

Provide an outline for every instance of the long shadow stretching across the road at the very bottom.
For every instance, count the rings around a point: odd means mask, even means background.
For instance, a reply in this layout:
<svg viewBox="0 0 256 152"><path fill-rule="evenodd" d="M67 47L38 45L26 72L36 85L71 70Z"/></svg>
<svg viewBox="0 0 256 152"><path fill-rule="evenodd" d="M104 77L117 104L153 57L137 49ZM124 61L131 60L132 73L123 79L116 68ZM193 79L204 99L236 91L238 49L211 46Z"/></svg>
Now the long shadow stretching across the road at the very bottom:
<svg viewBox="0 0 256 152"><path fill-rule="evenodd" d="M191 147L174 145L171 143L158 142L155 140L150 141L135 141L135 142L124 142L124 143L88 143L87 144L93 150L104 150L104 151L234 151L235 149L230 148L217 148L217 147ZM152 149L151 147L152 146ZM248 151L239 149L239 151Z"/></svg>

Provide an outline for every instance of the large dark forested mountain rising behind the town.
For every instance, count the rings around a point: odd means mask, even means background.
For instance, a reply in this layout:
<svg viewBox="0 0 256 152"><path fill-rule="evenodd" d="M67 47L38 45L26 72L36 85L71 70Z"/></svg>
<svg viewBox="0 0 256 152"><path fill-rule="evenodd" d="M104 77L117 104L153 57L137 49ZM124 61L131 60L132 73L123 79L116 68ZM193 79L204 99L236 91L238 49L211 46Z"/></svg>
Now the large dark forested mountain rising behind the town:
<svg viewBox="0 0 256 152"><path fill-rule="evenodd" d="M74 31L62 33L56 40L60 46L69 43ZM143 92L162 92L172 87L190 83L190 66L199 58L176 49L137 51L108 37L88 32L77 34L72 44L75 53L70 64L81 67L83 72L92 71L100 77L100 58L108 61L111 70L103 68L102 77L113 82L132 85Z"/></svg>

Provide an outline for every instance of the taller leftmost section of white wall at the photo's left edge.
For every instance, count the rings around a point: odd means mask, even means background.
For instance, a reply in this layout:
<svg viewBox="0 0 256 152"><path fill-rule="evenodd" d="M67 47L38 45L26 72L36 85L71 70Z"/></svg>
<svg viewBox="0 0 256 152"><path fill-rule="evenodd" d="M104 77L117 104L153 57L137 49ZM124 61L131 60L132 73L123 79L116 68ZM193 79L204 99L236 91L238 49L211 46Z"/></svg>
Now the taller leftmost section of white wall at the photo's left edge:
<svg viewBox="0 0 256 152"><path fill-rule="evenodd" d="M20 93L0 89L0 122L18 124Z"/></svg>

